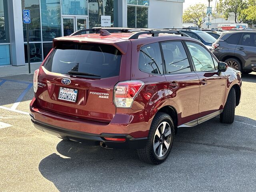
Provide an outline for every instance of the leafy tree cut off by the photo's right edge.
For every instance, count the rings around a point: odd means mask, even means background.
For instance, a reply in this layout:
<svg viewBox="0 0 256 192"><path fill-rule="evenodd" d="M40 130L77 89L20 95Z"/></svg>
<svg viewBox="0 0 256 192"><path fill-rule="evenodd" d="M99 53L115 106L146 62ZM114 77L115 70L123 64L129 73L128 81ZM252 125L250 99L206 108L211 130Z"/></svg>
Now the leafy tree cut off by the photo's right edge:
<svg viewBox="0 0 256 192"><path fill-rule="evenodd" d="M256 24L256 1L249 0L248 8L241 11L239 18L249 25Z"/></svg>

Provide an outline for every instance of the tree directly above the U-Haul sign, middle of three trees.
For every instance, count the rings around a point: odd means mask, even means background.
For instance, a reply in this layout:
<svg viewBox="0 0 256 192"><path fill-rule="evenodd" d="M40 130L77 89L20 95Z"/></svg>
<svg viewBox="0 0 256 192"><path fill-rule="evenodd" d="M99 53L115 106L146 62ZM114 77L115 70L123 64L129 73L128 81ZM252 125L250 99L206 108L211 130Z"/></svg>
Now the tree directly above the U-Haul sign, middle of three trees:
<svg viewBox="0 0 256 192"><path fill-rule="evenodd" d="M226 20L234 14L235 23L243 22L239 15L246 8L248 8L248 0L220 0L217 4L217 12L222 13L222 17Z"/></svg>

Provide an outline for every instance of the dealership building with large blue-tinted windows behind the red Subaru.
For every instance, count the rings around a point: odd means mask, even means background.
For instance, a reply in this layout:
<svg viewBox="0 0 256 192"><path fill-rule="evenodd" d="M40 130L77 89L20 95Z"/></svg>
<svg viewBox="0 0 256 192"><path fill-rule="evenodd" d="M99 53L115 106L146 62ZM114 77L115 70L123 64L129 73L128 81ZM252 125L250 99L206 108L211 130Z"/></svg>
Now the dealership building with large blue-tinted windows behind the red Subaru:
<svg viewBox="0 0 256 192"><path fill-rule="evenodd" d="M42 62L52 40L74 31L101 27L109 16L112 27L182 27L184 0L0 0L0 66L28 62L26 24L30 10L30 62Z"/></svg>

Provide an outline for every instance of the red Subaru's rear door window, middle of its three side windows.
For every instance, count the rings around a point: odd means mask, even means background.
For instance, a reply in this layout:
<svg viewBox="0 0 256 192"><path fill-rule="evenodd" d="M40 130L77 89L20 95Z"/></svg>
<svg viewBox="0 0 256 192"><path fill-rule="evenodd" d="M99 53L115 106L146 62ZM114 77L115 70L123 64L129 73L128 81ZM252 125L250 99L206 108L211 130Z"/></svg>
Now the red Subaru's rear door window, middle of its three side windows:
<svg viewBox="0 0 256 192"><path fill-rule="evenodd" d="M167 74L191 72L182 42L164 42L161 45Z"/></svg>

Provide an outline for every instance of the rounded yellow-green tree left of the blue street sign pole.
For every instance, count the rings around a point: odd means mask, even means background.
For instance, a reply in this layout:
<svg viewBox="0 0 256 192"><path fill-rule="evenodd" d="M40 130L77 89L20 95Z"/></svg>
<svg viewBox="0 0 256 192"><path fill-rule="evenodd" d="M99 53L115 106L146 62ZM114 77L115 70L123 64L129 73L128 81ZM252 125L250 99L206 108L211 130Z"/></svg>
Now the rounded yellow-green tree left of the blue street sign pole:
<svg viewBox="0 0 256 192"><path fill-rule="evenodd" d="M196 26L201 28L202 24L206 21L206 5L198 3L192 6L189 6L184 10L182 19L185 23L194 23Z"/></svg>

